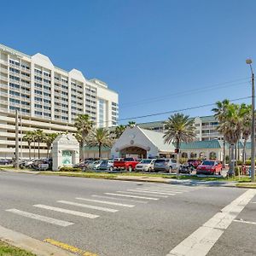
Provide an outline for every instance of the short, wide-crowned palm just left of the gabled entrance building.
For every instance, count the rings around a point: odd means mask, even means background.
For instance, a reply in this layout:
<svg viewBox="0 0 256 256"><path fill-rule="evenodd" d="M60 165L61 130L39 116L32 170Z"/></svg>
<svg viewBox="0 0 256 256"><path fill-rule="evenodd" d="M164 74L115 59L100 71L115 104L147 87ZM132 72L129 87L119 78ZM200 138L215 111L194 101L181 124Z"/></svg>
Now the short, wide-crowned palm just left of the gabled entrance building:
<svg viewBox="0 0 256 256"><path fill-rule="evenodd" d="M96 128L90 131L89 136L86 139L86 143L90 147L99 148L99 158L102 157L102 147L111 147L112 139L109 131L105 128Z"/></svg>

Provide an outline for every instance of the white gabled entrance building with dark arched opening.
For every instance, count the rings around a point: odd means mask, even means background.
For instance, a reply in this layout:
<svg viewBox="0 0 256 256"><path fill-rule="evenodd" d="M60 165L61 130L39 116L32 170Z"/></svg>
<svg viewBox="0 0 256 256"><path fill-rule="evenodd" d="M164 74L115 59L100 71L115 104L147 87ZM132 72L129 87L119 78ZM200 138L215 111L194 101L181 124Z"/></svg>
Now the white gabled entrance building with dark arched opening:
<svg viewBox="0 0 256 256"><path fill-rule="evenodd" d="M135 156L138 158L157 157L174 154L174 146L164 143L164 134L142 129L138 126L127 127L111 148L112 157Z"/></svg>

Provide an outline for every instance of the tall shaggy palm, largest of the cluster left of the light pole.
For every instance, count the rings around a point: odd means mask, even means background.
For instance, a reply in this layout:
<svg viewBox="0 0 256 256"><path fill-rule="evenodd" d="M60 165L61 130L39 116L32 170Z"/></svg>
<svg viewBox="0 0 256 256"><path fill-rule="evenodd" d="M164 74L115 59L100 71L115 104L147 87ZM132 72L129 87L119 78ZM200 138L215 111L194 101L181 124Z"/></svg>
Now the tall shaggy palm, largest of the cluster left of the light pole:
<svg viewBox="0 0 256 256"><path fill-rule="evenodd" d="M224 140L230 143L230 170L228 175L235 173L235 145L241 138L243 123L247 117L249 108L246 104L228 104L219 120L218 131L224 135Z"/></svg>

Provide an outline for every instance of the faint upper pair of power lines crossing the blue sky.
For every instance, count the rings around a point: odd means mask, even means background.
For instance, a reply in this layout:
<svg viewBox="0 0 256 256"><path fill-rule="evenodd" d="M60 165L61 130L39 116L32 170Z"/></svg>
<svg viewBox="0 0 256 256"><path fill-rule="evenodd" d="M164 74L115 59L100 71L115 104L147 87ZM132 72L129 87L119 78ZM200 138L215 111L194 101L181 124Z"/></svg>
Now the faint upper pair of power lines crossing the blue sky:
<svg viewBox="0 0 256 256"><path fill-rule="evenodd" d="M205 86L205 87L199 87L199 88L195 88L195 89L192 89L192 90L179 91L177 93L173 93L173 94L170 94L170 95L158 96L158 97L153 97L153 98L148 98L148 99L142 99L139 102L124 103L124 104L120 104L120 106L122 106L122 108L128 108L128 107L131 107L131 105L132 106L137 106L137 105L145 104L145 103L159 102L159 101L161 101L165 98L169 98L169 97L188 96L188 95L192 95L194 93L205 92L207 90L216 90L216 89L227 88L227 87L240 85L240 84L247 84L249 81L243 81L243 82L240 82L240 83L235 83L235 82L245 80L245 79L249 79L249 78L236 79L236 80L231 80L231 81L227 81L227 82L223 82L223 83L212 84L212 85ZM129 105L129 106L125 107L125 105Z"/></svg>

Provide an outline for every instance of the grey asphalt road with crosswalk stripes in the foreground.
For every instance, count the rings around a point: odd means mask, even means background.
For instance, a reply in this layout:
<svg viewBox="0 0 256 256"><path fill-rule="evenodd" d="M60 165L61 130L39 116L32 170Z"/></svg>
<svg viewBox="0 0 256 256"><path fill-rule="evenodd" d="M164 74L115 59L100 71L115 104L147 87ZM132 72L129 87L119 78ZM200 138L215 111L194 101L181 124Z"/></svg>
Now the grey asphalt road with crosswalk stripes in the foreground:
<svg viewBox="0 0 256 256"><path fill-rule="evenodd" d="M223 212L230 224L208 255L256 255L256 198L244 207L235 201L246 191L0 172L0 225L98 255L176 255L175 248L229 206Z"/></svg>

